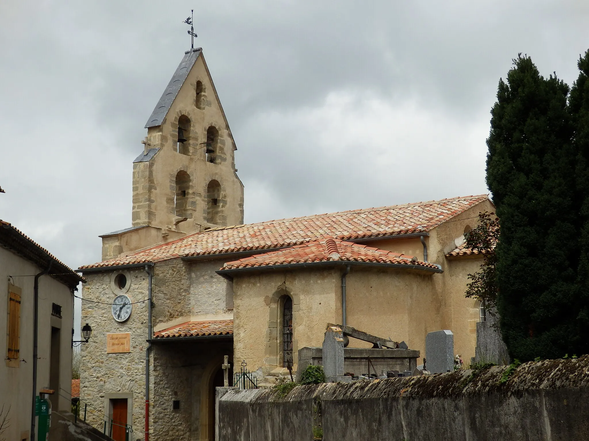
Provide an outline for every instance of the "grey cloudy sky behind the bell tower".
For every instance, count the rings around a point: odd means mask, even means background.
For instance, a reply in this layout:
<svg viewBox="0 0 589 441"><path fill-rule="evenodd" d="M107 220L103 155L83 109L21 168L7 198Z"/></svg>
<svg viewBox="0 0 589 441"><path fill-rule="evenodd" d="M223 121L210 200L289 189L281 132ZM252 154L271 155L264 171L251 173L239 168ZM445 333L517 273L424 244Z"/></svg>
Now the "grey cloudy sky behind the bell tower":
<svg viewBox="0 0 589 441"><path fill-rule="evenodd" d="M131 225L145 121L198 38L246 222L486 193L499 77L571 83L589 2L0 0L0 218L72 268Z"/></svg>

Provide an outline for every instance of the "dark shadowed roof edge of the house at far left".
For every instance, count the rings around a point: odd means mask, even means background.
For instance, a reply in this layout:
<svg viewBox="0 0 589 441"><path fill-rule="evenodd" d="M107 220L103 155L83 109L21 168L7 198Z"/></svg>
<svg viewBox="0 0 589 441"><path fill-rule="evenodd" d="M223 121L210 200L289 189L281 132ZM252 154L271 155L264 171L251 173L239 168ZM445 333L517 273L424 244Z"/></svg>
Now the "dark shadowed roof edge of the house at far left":
<svg viewBox="0 0 589 441"><path fill-rule="evenodd" d="M42 269L47 269L49 263L51 263L49 275L70 286L70 288L75 288L78 283L85 282L84 278L48 252L47 249L29 238L18 228L15 228L14 225L2 219L0 219L0 246L14 251Z"/></svg>

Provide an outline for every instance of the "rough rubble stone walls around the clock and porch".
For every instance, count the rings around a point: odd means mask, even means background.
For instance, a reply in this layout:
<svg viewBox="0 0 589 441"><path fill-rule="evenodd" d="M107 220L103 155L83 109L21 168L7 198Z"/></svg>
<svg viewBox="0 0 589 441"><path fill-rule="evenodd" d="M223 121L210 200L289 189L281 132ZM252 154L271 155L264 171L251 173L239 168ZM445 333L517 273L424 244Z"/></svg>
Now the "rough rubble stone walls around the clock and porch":
<svg viewBox="0 0 589 441"><path fill-rule="evenodd" d="M219 260L167 260L153 268L154 332L190 320L233 318L231 283L214 270ZM125 290L113 280L123 273ZM148 275L143 268L88 273L82 320L92 325L92 342L82 348L81 400L89 403L88 422L102 429L110 416L110 399L128 397L132 403L133 440L143 439L145 421L145 349L147 348ZM133 305L130 318L112 318L112 300L124 293ZM104 303L92 303L88 300ZM107 353L107 333L130 332L130 353ZM223 356L233 364L231 339L220 342L154 343L150 350L151 439L206 440L211 436L211 384ZM217 377L218 381L218 377ZM118 395L117 395L118 394ZM126 395L125 395L126 394ZM180 409L173 409L173 401Z"/></svg>

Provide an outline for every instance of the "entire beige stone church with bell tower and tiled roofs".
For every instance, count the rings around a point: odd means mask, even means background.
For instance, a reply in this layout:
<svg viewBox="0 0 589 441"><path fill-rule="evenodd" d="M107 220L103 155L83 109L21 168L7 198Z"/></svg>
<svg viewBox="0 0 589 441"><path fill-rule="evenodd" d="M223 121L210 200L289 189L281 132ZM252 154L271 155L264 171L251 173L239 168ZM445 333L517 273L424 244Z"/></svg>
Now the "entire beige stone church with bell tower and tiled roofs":
<svg viewBox="0 0 589 441"><path fill-rule="evenodd" d="M102 235L102 261L79 269L92 425L115 440L213 440L224 356L271 386L296 372L300 348L321 346L327 323L422 358L426 334L449 329L455 352L474 356L479 304L464 292L482 256L464 234L494 211L487 195L244 225L236 144L200 48L145 128L132 225Z"/></svg>

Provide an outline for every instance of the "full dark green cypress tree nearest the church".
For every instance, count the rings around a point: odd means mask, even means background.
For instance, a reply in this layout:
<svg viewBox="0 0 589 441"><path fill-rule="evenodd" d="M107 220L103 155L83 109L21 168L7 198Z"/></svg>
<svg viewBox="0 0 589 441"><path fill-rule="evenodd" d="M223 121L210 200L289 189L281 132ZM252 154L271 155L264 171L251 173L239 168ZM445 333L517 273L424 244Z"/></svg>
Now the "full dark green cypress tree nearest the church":
<svg viewBox="0 0 589 441"><path fill-rule="evenodd" d="M487 184L501 224L497 308L509 355L573 353L579 207L568 86L518 55L499 81L487 139Z"/></svg>

